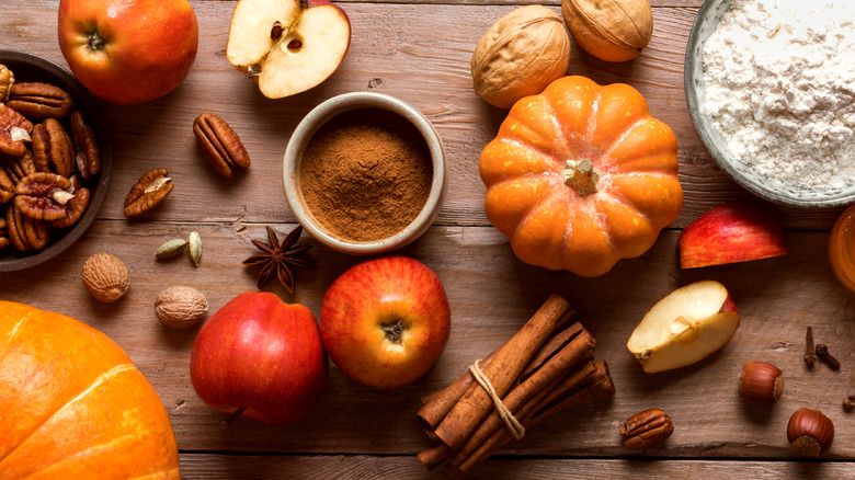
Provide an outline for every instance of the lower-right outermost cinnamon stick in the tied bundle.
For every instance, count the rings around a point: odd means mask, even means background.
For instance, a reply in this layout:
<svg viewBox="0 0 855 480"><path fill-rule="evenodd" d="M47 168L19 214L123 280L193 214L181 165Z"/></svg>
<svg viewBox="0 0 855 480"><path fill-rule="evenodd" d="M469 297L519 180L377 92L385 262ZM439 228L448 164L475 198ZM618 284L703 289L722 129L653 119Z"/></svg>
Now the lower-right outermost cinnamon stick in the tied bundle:
<svg viewBox="0 0 855 480"><path fill-rule="evenodd" d="M582 384L586 384L586 386L577 389L565 388L565 393L569 392L569 396L559 402L554 402L555 398L549 396L549 399L545 398L538 405L526 405L528 407L526 409L527 411L522 413L517 420L520 420L526 428L529 428L560 410L579 405L596 398L607 397L615 392L612 377L608 374L608 367L603 361L589 362L583 368L569 375L566 380L561 381L560 387L556 386L556 388L563 388L569 385L580 386ZM544 409L545 405L546 409ZM512 439L513 435L508 428L494 431L493 434L469 455L468 458L459 461L458 465L449 465L448 472L453 477L459 478L463 473L469 471L472 467L490 457L495 450L503 447Z"/></svg>

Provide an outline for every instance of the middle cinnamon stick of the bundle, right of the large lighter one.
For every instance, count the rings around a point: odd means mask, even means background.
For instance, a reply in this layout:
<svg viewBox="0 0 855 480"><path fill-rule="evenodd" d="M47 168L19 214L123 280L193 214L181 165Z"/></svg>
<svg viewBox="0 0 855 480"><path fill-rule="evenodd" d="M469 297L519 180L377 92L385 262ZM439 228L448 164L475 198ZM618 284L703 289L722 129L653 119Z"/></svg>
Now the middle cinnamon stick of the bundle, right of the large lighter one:
<svg viewBox="0 0 855 480"><path fill-rule="evenodd" d="M567 330L575 329L571 328ZM528 402L536 402L535 404L539 404L539 400L549 393L562 378L567 377L568 372L571 372L575 365L593 359L595 343L593 336L591 336L588 331L582 330L572 341L563 345L562 348L554 354L549 361L543 363L540 368L532 374L528 379L511 390L508 396L502 399L502 402L514 416L516 416L518 410ZM467 439L466 444L464 444L454 457L452 457L452 464L457 465L466 459L475 449L487 441L493 432L503 427L504 421L499 415L499 412L493 411L487 420L478 426Z"/></svg>

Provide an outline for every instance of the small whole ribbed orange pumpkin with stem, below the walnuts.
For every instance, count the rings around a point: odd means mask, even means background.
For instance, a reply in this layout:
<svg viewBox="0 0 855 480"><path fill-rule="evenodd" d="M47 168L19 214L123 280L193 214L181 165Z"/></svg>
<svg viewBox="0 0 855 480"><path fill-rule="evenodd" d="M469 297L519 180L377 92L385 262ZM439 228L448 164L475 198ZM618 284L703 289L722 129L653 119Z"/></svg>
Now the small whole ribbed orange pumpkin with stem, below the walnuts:
<svg viewBox="0 0 855 480"><path fill-rule="evenodd" d="M479 170L520 260L581 276L646 252L683 205L674 133L623 83L563 77L521 99Z"/></svg>

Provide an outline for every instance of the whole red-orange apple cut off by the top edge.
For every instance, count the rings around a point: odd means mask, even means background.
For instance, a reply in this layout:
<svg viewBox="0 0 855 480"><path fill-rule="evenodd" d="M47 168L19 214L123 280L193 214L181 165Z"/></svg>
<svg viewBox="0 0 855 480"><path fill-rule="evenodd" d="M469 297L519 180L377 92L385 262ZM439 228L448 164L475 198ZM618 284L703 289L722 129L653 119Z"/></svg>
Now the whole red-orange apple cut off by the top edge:
<svg viewBox="0 0 855 480"><path fill-rule="evenodd" d="M80 83L122 105L175 90L198 48L187 0L60 0L58 36Z"/></svg>

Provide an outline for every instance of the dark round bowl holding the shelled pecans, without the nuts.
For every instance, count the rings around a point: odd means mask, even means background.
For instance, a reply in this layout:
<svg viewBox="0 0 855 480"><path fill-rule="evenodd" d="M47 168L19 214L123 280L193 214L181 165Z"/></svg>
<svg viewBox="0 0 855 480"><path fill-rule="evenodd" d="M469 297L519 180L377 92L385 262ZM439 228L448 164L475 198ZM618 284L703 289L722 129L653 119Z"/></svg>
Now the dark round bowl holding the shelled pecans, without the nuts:
<svg viewBox="0 0 855 480"><path fill-rule="evenodd" d="M50 241L42 250L19 252L12 245L0 250L0 272L13 272L56 258L86 233L106 197L113 151L110 145L110 132L101 115L98 102L69 71L50 60L21 52L0 50L0 64L12 70L15 82L53 83L71 94L76 108L83 111L87 122L94 127L98 145L101 148L101 172L84 182L91 191L91 197L83 216L69 229L52 229Z"/></svg>

